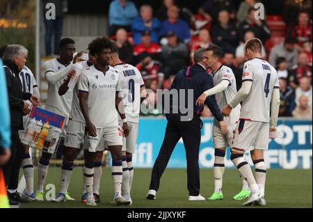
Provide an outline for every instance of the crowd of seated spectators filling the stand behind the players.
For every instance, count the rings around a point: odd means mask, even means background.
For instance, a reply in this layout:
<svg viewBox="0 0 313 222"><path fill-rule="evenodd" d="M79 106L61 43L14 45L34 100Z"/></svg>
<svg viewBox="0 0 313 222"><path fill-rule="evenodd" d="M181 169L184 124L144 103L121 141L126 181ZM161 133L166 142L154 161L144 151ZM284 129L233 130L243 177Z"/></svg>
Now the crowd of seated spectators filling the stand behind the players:
<svg viewBox="0 0 313 222"><path fill-rule="evenodd" d="M118 43L122 61L135 65L143 75L145 86L155 92L158 88L170 88L175 74L193 63L194 51L212 43L223 49L222 62L234 71L239 90L246 61L244 42L259 38L264 45L262 56L277 68L280 77L279 115L311 118L310 12L293 8L293 18L277 15L262 20L255 17L255 3L246 0L235 8L233 1L207 0L193 14L179 7L175 0L163 0L157 10L147 4L136 8L131 1L115 0L109 7L109 33ZM280 19L274 22L281 22L280 31L271 22L277 17ZM150 94L145 102L154 109L157 96ZM159 111L154 109L154 113ZM211 116L211 113L205 109L202 115Z"/></svg>

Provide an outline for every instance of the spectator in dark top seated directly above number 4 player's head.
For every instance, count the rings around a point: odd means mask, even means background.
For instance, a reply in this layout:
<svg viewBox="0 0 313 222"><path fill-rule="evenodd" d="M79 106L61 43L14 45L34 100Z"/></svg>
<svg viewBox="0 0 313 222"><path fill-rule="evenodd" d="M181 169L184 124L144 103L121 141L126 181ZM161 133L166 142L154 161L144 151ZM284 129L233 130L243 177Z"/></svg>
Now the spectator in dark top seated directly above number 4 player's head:
<svg viewBox="0 0 313 222"><path fill-rule="evenodd" d="M239 24L239 39L242 41L246 31L252 31L255 33L255 37L262 41L263 45L265 41L271 36L271 31L266 26L266 22L261 19L255 18L255 8L250 8L246 19Z"/></svg>

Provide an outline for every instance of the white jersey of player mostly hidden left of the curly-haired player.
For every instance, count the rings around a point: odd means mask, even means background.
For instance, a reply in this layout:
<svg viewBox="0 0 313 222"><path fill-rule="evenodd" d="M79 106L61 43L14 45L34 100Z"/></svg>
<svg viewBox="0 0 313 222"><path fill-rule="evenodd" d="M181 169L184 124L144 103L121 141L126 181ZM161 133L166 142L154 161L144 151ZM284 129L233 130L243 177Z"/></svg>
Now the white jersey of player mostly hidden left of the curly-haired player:
<svg viewBox="0 0 313 222"><path fill-rule="evenodd" d="M83 66L83 70L86 70L86 68L89 68L89 65L87 61L81 62L81 65ZM81 73L82 74L82 73ZM70 113L70 119L78 121L78 122L85 122L85 118L83 118L83 113L81 112L81 106L79 106L79 79L81 78L81 75L77 79L77 83L75 84L75 87L73 89L73 102L72 102L72 109Z"/></svg>

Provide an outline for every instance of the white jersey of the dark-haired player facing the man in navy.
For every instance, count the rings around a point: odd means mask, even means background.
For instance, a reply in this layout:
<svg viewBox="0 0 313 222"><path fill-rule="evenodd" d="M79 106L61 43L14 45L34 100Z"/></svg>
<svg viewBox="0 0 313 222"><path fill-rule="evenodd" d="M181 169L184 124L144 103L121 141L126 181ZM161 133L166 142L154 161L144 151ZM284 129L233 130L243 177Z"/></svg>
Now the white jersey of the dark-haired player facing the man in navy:
<svg viewBox="0 0 313 222"><path fill-rule="evenodd" d="M226 65L221 65L220 68L213 72L213 70L209 73L213 77L214 86L220 84L221 81L229 81L228 87L223 90L223 92L216 93L215 98L220 110L222 110L227 104L229 104L234 96L237 93L236 88L236 78L234 77L234 72L232 69L227 67ZM227 125L234 125L236 121L239 120L241 105L239 104L230 113L229 117L224 117ZM218 125L218 121L214 118L216 125Z"/></svg>

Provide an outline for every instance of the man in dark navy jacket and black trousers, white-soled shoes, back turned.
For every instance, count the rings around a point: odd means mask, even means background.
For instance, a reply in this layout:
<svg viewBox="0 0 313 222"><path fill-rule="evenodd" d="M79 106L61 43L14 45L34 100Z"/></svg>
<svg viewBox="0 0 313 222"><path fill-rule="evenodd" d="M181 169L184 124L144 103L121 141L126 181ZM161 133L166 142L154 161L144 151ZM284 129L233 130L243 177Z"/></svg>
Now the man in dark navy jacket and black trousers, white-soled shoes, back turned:
<svg viewBox="0 0 313 222"><path fill-rule="evenodd" d="M178 90L178 94L183 90L186 95L186 100L188 100L187 90L193 90L193 97L191 97L191 100L193 100L192 103L188 103L188 101L185 102L185 104L189 104L190 107L188 107L188 110L191 111L192 114L191 118L187 120L185 118L184 120L182 118L184 114L182 113L184 113L185 110L179 108L177 101L170 100L170 114L166 114L168 120L166 134L159 155L153 166L150 191L147 194L147 199L155 199L157 190L159 189L161 175L168 164L170 155L179 139L183 138L187 158L189 200L205 200L205 198L200 196L200 171L198 164L202 128L200 113L203 107L196 106L195 101L205 90L214 87L213 78L207 74L206 59L204 49L195 51L195 65L180 70L172 82L170 90ZM206 104L211 110L211 113L213 113L220 122L221 127L226 127L215 97L207 97Z"/></svg>

